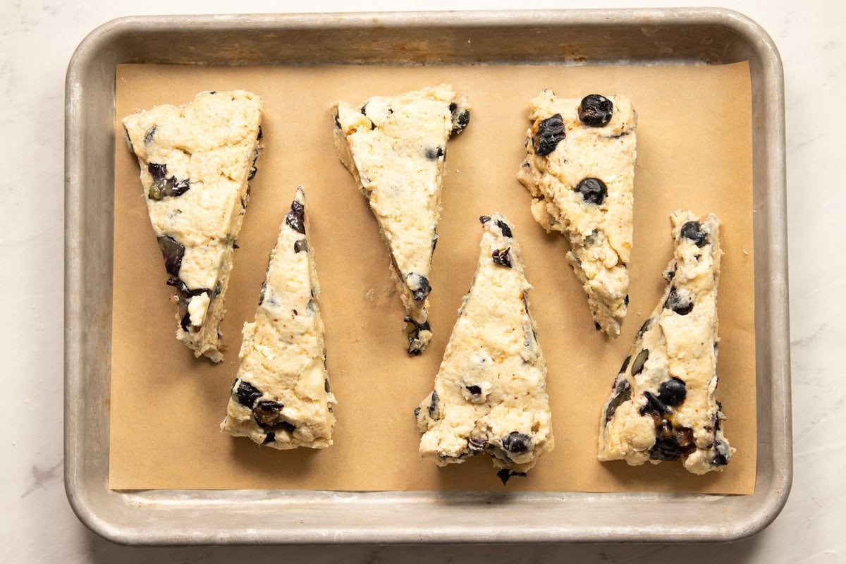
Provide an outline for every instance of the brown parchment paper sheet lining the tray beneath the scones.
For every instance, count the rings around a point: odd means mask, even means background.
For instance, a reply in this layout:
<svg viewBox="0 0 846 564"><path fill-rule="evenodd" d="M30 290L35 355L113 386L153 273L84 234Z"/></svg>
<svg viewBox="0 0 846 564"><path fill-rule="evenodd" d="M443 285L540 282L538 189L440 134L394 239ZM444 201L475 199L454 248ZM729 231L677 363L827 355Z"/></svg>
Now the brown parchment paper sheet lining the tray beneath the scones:
<svg viewBox="0 0 846 564"><path fill-rule="evenodd" d="M357 104L447 82L473 104L450 141L440 239L431 271L431 346L405 353L403 310L376 222L332 145L332 101ZM624 93L638 112L634 249L622 335L595 331L565 239L531 216L515 178L528 101ZM264 150L238 239L222 325L225 359L194 359L173 337L172 288L147 217L135 157L119 120L202 90L264 97ZM114 302L110 435L113 489L503 490L491 461L437 468L419 457L413 410L431 386L478 256L478 217L514 222L556 439L508 490L678 491L748 494L755 485L755 329L750 74L746 63L699 67L247 67L121 65L117 69ZM334 446L279 452L218 428L238 370L241 326L252 320L267 256L294 189L310 200L328 369L338 397ZM672 256L669 214L688 208L722 219L720 386L726 436L737 454L722 473L680 463L599 463L602 404L634 333L656 305Z"/></svg>

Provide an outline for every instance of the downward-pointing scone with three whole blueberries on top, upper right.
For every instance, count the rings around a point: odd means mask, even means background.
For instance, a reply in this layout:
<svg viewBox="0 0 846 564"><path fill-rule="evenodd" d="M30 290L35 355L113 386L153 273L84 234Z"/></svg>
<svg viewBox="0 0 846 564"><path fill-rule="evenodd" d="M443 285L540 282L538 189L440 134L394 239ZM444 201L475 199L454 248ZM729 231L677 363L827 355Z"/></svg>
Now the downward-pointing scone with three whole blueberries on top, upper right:
<svg viewBox="0 0 846 564"><path fill-rule="evenodd" d="M567 235L567 261L596 324L611 337L629 305L636 114L625 96L531 100L533 125L517 178L547 233Z"/></svg>

